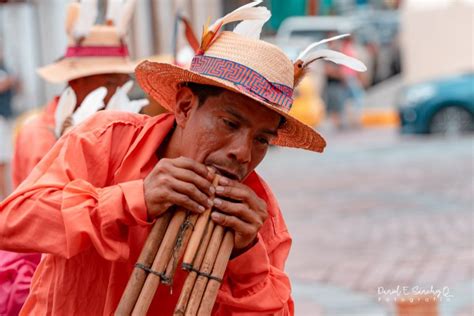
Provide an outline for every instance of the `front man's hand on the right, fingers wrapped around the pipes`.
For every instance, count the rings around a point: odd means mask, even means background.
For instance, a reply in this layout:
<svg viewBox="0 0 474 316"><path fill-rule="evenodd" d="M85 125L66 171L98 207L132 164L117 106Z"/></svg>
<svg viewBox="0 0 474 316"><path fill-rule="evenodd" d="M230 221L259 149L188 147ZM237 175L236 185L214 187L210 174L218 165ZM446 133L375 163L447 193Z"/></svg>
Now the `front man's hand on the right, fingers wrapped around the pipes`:
<svg viewBox="0 0 474 316"><path fill-rule="evenodd" d="M223 199L214 199L214 208L219 212L214 211L212 219L234 230L234 255L238 255L256 241L257 233L268 217L267 204L246 185L225 177L219 179L216 196Z"/></svg>

